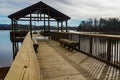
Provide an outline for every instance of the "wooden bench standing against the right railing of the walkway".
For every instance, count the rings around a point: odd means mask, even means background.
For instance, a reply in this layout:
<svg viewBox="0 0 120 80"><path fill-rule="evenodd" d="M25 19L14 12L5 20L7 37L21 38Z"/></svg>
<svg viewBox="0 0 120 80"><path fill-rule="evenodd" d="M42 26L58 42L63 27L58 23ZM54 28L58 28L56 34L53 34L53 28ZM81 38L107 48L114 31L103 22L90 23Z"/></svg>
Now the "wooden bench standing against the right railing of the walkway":
<svg viewBox="0 0 120 80"><path fill-rule="evenodd" d="M79 43L69 39L60 39L60 45L68 46L68 49L72 51L76 46L79 46Z"/></svg>

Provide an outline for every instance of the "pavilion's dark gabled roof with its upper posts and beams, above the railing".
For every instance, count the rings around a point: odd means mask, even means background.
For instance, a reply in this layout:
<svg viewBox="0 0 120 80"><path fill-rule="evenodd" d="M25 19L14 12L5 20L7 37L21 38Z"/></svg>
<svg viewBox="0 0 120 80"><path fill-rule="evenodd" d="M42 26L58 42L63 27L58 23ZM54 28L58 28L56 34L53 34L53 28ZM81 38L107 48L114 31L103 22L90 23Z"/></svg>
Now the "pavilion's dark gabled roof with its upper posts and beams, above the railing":
<svg viewBox="0 0 120 80"><path fill-rule="evenodd" d="M42 1L26 7L18 12L15 12L8 16L11 19L12 32L17 31L18 21L29 21L29 31L32 38L32 25L33 22L43 21L44 31L51 31L50 22L56 21L57 30L63 31L63 22L67 32L69 16L61 13L60 11L52 8L51 6L43 3ZM21 42L21 40L16 40Z"/></svg>

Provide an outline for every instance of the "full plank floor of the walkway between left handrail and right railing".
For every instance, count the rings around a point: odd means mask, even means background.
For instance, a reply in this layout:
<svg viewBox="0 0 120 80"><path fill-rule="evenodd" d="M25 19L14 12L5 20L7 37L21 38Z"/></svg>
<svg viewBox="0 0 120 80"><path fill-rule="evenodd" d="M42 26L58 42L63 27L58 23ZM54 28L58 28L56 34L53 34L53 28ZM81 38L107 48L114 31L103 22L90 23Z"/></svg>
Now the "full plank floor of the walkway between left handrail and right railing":
<svg viewBox="0 0 120 80"><path fill-rule="evenodd" d="M120 71L52 40L38 40L44 80L120 80Z"/></svg>

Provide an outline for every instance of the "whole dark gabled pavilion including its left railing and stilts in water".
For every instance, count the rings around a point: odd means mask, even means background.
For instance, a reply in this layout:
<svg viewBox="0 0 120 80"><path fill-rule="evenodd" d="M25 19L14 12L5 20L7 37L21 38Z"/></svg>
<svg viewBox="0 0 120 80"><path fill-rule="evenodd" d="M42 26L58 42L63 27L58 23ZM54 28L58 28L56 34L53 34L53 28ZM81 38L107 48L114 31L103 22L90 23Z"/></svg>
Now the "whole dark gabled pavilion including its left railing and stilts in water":
<svg viewBox="0 0 120 80"><path fill-rule="evenodd" d="M24 40L27 32L30 31L32 38L33 25L36 23L38 26L44 26L42 33L45 32L44 36L50 36L51 24L50 22L55 22L58 26L57 31L63 31L63 26L65 26L65 31L67 32L69 16L61 13L60 11L52 8L51 6L43 3L42 1L33 4L27 8L24 8L18 12L15 12L8 16L11 19L12 32L10 33L10 39L13 43L13 53L17 54L19 48L19 42ZM29 23L27 30L23 29L22 31L18 29L19 22ZM41 24L44 23L44 25ZM63 25L65 23L65 25ZM61 25L61 26L59 26ZM37 29L39 30L39 29ZM13 56L15 57L15 56Z"/></svg>

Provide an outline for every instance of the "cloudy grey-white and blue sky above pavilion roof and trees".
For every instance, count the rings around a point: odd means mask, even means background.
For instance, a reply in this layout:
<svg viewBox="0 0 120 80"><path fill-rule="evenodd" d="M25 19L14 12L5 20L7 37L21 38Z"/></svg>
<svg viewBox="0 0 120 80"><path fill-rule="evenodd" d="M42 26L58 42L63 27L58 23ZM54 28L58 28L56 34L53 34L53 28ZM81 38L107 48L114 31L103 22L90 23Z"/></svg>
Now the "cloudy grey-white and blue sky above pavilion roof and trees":
<svg viewBox="0 0 120 80"><path fill-rule="evenodd" d="M40 0L0 0L0 16L8 16ZM79 21L87 18L120 17L120 0L41 0Z"/></svg>

